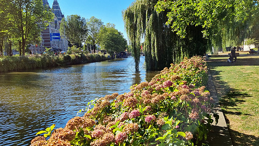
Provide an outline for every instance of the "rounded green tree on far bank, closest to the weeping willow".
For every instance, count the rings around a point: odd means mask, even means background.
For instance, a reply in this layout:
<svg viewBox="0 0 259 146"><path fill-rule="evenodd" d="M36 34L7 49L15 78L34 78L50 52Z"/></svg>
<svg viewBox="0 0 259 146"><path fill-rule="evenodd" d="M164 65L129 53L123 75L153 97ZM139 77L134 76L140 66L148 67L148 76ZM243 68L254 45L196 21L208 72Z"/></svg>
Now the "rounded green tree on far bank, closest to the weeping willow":
<svg viewBox="0 0 259 146"><path fill-rule="evenodd" d="M127 49L127 40L122 33L115 29L115 25L107 23L100 31L102 38L100 45L109 54L118 53Z"/></svg>

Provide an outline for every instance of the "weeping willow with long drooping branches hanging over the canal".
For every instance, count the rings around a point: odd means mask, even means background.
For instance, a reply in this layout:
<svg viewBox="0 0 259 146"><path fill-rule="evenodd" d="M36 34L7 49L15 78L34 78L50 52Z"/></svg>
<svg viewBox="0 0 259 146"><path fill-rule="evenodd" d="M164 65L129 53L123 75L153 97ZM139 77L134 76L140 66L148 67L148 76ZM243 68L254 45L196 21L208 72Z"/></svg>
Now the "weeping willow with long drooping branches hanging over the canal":
<svg viewBox="0 0 259 146"><path fill-rule="evenodd" d="M185 38L178 36L166 24L169 11L156 11L157 1L136 0L122 12L137 72L141 40L144 41L147 70L161 70L171 63L179 62L185 56L206 53L207 40L201 33L202 27L190 25L186 28Z"/></svg>

